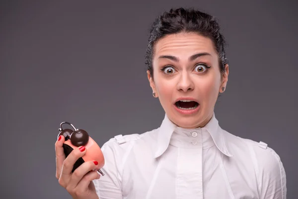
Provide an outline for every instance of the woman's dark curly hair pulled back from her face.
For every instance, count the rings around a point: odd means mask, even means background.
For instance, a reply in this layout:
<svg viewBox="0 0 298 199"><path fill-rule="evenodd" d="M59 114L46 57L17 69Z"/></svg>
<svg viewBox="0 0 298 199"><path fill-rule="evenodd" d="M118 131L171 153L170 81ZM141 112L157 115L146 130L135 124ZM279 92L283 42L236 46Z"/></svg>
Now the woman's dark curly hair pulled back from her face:
<svg viewBox="0 0 298 199"><path fill-rule="evenodd" d="M224 72L224 65L227 64L225 57L225 40L220 33L220 25L214 16L195 10L193 8L170 9L158 16L150 27L149 44L145 55L145 64L153 77L152 58L154 44L168 34L180 32L195 32L210 38L219 56L220 71Z"/></svg>

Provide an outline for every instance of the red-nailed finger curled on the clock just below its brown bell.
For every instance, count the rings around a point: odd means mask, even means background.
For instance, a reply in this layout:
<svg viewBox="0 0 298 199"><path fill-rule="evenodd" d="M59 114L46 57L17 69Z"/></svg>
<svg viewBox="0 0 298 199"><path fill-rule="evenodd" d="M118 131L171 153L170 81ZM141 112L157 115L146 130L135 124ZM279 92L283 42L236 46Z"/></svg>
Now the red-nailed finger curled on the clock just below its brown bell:
<svg viewBox="0 0 298 199"><path fill-rule="evenodd" d="M80 146L75 148L64 160L61 171L61 178L70 178L72 170L74 168L74 163L86 153L86 148Z"/></svg>

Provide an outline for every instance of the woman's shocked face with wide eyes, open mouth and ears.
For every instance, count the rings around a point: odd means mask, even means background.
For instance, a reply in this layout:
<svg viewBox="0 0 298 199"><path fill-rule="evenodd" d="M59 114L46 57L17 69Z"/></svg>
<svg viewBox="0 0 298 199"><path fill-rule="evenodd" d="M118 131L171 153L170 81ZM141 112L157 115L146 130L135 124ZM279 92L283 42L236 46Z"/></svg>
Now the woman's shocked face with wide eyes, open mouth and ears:
<svg viewBox="0 0 298 199"><path fill-rule="evenodd" d="M196 33L167 35L155 44L152 65L150 87L169 119L183 128L205 126L228 76L228 65L220 73L212 40Z"/></svg>

